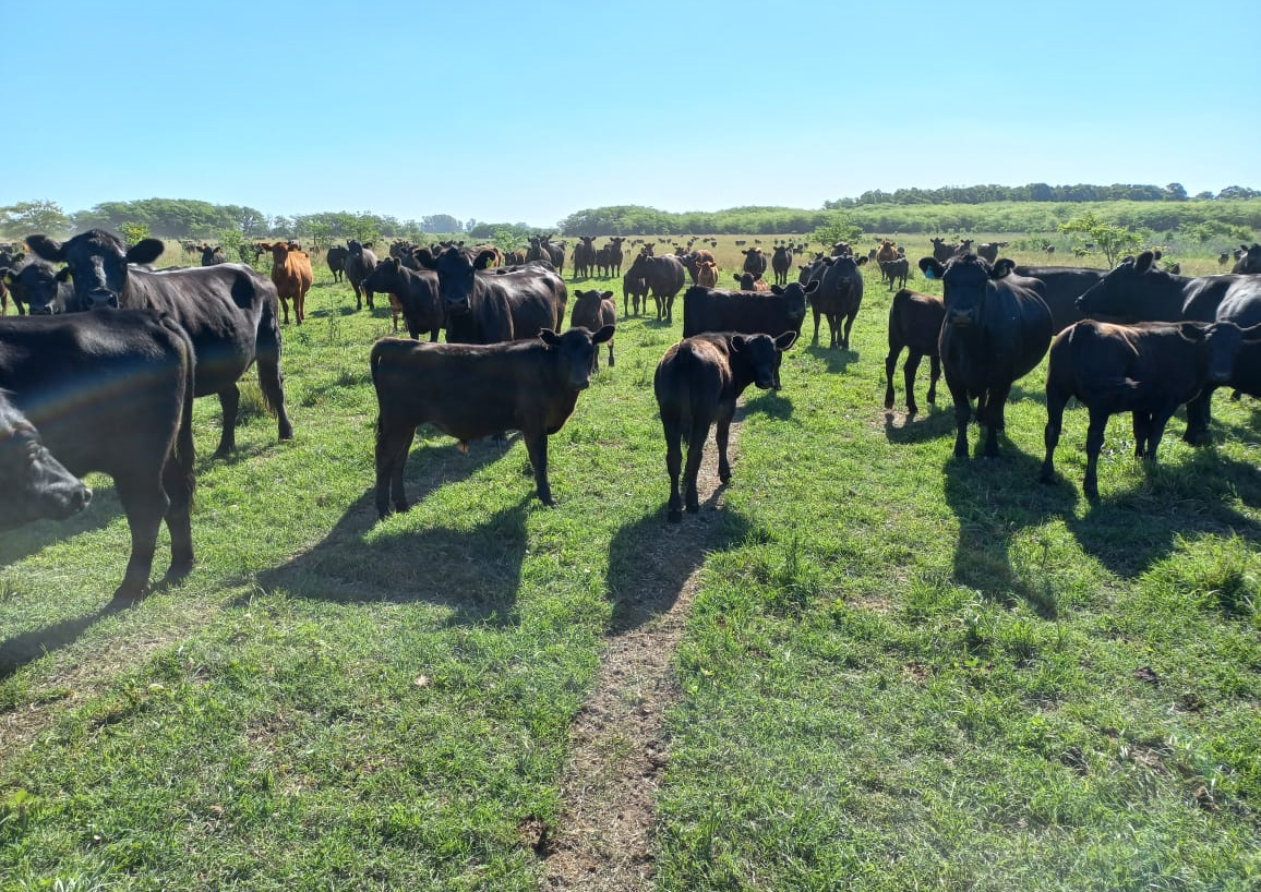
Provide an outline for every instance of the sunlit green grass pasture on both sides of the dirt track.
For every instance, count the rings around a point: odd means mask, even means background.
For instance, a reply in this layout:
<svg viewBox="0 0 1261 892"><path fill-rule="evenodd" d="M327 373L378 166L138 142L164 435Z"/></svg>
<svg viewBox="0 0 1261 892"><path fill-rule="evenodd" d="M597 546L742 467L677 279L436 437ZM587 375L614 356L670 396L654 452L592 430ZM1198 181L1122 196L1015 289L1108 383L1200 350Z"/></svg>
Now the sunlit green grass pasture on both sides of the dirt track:
<svg viewBox="0 0 1261 892"><path fill-rule="evenodd" d="M716 252L738 267L734 237ZM1204 450L1175 418L1154 469L1115 420L1092 508L1082 411L1064 483L1037 483L1044 365L999 461L951 459L944 389L884 412L889 294L868 275L847 353L807 319L784 389L748 394L725 508L683 519L712 548L675 656L658 886L1256 888L1256 402L1219 394ZM516 436L463 455L422 432L415 506L378 524L383 304L354 312L317 267L284 333L291 443L256 409L213 461L198 402L185 583L108 606L107 480L73 522L0 535L0 887L537 887L567 731L677 537L651 380L681 314L620 321L618 365L552 437L557 508Z"/></svg>

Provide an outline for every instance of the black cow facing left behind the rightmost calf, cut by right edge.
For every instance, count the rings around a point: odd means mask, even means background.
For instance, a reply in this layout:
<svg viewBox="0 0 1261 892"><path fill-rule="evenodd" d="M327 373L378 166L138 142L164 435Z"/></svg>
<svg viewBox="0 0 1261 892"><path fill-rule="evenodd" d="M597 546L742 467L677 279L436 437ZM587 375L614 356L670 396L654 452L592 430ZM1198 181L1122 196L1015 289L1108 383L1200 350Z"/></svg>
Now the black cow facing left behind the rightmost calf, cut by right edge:
<svg viewBox="0 0 1261 892"><path fill-rule="evenodd" d="M1161 271L1155 260L1151 251L1126 257L1077 299L1078 309L1124 323L1231 321L1240 328L1261 323L1261 277L1226 273L1192 278ZM1207 442L1214 389L1209 383L1187 404L1183 440L1189 443Z"/></svg>

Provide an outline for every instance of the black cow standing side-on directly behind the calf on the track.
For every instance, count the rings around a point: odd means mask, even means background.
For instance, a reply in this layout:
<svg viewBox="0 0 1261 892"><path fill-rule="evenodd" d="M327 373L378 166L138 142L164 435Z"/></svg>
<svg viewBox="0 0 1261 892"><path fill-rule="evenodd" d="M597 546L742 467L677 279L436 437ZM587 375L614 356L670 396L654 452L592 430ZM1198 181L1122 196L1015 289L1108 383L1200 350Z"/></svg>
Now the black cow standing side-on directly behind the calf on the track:
<svg viewBox="0 0 1261 892"><path fill-rule="evenodd" d="M817 289L818 282L793 282L783 287L776 285L770 292L728 291L694 285L683 292L683 338L715 331L765 334L772 338L792 331L799 336L802 323L806 321L806 302ZM772 384L777 391L779 362L781 357L777 355Z"/></svg>

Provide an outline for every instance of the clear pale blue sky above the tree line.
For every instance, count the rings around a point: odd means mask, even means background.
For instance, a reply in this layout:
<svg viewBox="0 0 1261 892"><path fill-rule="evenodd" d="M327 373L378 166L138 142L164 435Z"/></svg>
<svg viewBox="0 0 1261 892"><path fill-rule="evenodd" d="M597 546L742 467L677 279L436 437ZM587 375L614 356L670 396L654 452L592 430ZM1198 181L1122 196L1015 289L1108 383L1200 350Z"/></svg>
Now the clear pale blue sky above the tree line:
<svg viewBox="0 0 1261 892"><path fill-rule="evenodd" d="M4 10L0 205L551 226L902 186L1261 186L1237 0Z"/></svg>

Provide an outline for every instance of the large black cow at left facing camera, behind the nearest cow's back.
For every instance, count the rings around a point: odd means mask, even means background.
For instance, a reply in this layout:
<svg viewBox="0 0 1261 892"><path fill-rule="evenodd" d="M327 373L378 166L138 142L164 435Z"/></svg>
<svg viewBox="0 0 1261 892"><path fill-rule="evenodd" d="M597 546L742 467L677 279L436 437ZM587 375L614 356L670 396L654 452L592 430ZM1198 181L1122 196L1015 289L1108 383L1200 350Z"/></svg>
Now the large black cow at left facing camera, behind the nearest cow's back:
<svg viewBox="0 0 1261 892"><path fill-rule="evenodd" d="M44 260L69 267L79 307L150 309L173 316L188 331L197 354L197 396L217 393L223 407L216 456L236 446L241 396L236 382L256 360L259 384L276 413L280 438L294 436L280 372L280 300L276 287L252 267L219 263L165 272L129 267L155 261L163 243L145 238L124 251L121 239L101 229L62 243L30 236L26 244Z"/></svg>

